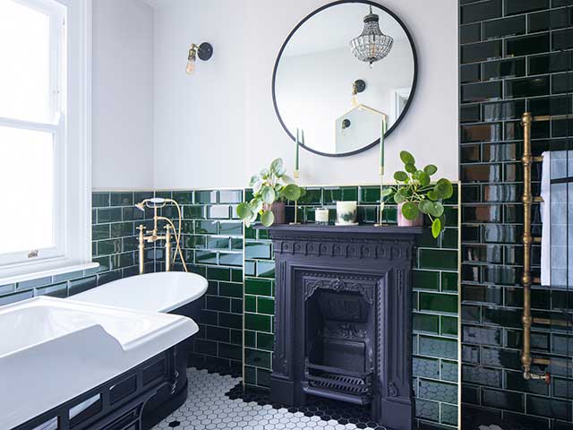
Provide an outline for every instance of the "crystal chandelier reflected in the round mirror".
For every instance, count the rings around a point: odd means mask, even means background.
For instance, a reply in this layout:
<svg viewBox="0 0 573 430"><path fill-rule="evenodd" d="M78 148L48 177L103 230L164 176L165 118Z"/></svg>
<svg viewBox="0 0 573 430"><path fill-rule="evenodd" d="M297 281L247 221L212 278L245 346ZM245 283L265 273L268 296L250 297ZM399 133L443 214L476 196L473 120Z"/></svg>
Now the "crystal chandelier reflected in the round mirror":
<svg viewBox="0 0 573 430"><path fill-rule="evenodd" d="M380 30L379 21L380 17L376 13L372 13L371 5L370 13L364 16L364 30L362 34L350 40L350 51L352 54L360 61L370 63L371 67L372 63L388 56L394 44L394 39Z"/></svg>

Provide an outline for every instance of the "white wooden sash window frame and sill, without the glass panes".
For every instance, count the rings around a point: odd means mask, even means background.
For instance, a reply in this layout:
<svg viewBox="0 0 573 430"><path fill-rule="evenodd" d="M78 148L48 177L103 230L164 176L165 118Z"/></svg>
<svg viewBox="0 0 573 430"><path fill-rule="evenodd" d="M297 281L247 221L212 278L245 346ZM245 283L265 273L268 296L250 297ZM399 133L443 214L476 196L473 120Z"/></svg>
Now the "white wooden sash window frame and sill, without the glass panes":
<svg viewBox="0 0 573 430"><path fill-rule="evenodd" d="M58 41L50 44L53 122L0 117L0 125L54 135L55 246L37 256L0 255L0 285L97 266L91 262L91 0L15 1L47 13L50 37Z"/></svg>

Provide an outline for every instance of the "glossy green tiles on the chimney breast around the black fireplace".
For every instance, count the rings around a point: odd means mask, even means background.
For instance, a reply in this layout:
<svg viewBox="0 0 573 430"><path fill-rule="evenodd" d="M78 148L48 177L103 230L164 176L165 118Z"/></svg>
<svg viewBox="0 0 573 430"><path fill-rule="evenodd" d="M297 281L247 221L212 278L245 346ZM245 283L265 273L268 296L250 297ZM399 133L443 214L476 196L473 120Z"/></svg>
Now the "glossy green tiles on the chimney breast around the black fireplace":
<svg viewBox="0 0 573 430"><path fill-rule="evenodd" d="M247 195L247 198L249 195ZM359 202L363 223L377 220L380 187L312 188L299 206L304 222L314 209L327 206L336 216L337 200ZM397 210L387 205L384 219L396 223ZM413 274L415 414L419 426L458 426L458 193L446 208L447 228L438 240L427 229L418 241ZM294 206L287 207L294 218ZM273 350L274 262L265 230L245 230L244 381L269 387Z"/></svg>

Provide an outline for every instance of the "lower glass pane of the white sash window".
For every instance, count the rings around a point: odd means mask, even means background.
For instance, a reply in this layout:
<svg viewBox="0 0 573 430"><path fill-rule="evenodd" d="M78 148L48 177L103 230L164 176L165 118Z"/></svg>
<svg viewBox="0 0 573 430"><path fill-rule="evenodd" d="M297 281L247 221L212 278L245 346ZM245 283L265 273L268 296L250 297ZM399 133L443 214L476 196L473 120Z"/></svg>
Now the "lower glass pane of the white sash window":
<svg viewBox="0 0 573 430"><path fill-rule="evenodd" d="M0 254L54 246L53 134L0 126L0 162Z"/></svg>

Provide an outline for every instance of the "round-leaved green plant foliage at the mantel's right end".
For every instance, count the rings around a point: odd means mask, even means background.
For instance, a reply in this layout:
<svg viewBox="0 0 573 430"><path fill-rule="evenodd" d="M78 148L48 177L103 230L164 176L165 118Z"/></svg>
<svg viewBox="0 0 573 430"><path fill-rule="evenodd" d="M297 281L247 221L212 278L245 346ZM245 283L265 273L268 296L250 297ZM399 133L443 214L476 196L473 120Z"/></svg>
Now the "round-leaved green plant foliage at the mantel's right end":
<svg viewBox="0 0 573 430"><path fill-rule="evenodd" d="M444 215L443 199L449 199L454 193L454 187L448 179L441 178L432 182L438 168L429 164L422 170L415 167L414 156L403 150L400 159L404 163L404 170L394 173L396 186L384 190L383 197L394 199L402 205L402 215L406 219L416 219L420 213L427 215L432 221L432 236L437 238L444 229L446 217Z"/></svg>

